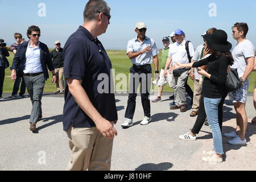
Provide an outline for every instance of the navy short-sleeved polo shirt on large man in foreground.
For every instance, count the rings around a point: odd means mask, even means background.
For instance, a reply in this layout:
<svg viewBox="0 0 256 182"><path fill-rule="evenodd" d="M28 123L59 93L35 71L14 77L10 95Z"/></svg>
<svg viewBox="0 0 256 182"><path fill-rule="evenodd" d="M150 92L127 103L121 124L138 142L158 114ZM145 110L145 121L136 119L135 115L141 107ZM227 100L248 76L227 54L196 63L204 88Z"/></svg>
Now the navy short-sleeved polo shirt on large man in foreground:
<svg viewBox="0 0 256 182"><path fill-rule="evenodd" d="M112 64L101 42L94 39L86 28L80 26L68 38L63 56L65 75L64 131L67 131L71 125L72 127L96 126L69 92L67 78L82 80L82 88L101 116L110 122L117 120L111 76Z"/></svg>

